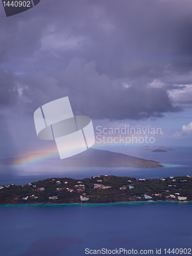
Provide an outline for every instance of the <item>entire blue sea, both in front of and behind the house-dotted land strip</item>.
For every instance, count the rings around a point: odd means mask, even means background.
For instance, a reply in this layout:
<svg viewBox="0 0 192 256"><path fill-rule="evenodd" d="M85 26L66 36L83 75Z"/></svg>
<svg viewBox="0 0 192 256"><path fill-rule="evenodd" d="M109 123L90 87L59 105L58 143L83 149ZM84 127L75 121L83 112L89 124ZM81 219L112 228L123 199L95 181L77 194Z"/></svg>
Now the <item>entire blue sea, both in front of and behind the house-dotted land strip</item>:
<svg viewBox="0 0 192 256"><path fill-rule="evenodd" d="M81 179L100 174L136 178L192 176L191 153L191 148L167 153L127 152L159 161L164 168L61 169L56 166L53 170L53 166L42 163L17 169L1 166L0 185L27 184L49 177ZM87 252L108 249L106 254L110 250L119 252L119 248L128 252L134 249L135 253L153 250L156 254L157 248L164 255L165 248L192 247L191 214L191 202L0 206L0 255L90 255L85 253L86 248Z"/></svg>

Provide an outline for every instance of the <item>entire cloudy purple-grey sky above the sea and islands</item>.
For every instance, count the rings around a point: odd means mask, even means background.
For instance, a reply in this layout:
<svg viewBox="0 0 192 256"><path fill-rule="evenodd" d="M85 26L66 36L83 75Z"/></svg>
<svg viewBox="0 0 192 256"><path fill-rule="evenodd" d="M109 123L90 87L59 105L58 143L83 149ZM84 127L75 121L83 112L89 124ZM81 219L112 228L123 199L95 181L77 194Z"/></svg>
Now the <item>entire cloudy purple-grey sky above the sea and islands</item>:
<svg viewBox="0 0 192 256"><path fill-rule="evenodd" d="M0 158L56 151L33 113L65 96L95 132L160 127L149 145L191 146L191 33L190 0L41 0L10 17L0 5Z"/></svg>

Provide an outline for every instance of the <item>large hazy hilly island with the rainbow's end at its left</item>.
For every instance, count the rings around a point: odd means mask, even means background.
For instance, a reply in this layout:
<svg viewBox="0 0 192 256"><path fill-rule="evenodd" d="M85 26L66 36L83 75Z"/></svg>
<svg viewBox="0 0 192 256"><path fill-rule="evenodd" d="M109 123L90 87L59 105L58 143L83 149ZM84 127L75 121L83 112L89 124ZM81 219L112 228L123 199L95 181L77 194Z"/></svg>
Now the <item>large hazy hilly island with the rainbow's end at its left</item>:
<svg viewBox="0 0 192 256"><path fill-rule="evenodd" d="M55 157L53 157L53 155ZM49 165L77 167L164 167L159 162L138 157L115 153L111 151L89 148L76 156L60 159L58 153L35 153L17 158L0 159L0 164L19 165L29 163L34 159L42 159Z"/></svg>

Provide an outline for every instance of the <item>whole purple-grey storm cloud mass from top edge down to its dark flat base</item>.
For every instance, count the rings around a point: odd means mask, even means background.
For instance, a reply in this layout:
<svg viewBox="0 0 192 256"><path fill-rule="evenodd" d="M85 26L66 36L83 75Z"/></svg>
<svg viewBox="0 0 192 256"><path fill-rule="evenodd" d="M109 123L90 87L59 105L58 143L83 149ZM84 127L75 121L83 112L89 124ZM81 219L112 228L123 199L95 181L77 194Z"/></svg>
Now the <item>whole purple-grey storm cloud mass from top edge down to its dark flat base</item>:
<svg viewBox="0 0 192 256"><path fill-rule="evenodd" d="M180 111L168 91L190 82L191 10L188 0L42 0L27 17L2 18L0 63L17 74L17 106L32 114L69 96L97 119Z"/></svg>

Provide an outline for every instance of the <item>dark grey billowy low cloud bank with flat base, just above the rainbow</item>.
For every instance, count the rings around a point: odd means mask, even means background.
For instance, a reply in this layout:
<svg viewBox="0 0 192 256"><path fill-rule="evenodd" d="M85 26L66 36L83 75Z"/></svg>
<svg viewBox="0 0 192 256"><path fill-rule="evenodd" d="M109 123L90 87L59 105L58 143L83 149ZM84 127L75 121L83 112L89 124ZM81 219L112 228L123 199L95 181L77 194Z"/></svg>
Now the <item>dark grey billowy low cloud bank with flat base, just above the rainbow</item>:
<svg viewBox="0 0 192 256"><path fill-rule="evenodd" d="M32 113L34 108L64 96L69 96L76 113L95 119L139 120L180 111L165 90L145 86L146 79L126 88L122 81L112 82L106 75L99 75L94 62L77 58L54 76L41 71L23 76L21 84L25 87L22 97L28 99L27 109Z"/></svg>

